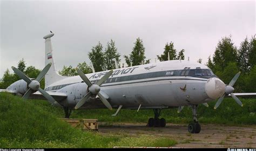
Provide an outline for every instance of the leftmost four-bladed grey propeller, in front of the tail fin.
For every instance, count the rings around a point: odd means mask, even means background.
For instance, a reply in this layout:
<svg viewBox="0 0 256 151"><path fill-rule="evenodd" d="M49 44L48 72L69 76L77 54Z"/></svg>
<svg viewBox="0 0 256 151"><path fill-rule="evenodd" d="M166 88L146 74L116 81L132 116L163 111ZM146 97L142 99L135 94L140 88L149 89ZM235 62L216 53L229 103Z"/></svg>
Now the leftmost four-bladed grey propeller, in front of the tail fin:
<svg viewBox="0 0 256 151"><path fill-rule="evenodd" d="M45 92L42 88L40 88L40 81L44 78L44 75L49 71L51 67L51 63L46 65L44 69L38 74L36 79L30 79L27 77L23 72L18 70L18 68L12 66L12 70L19 76L19 78L23 79L28 83L29 90L26 91L26 93L22 96L24 99L28 99L30 94L39 91L51 104L62 107L54 98L52 98L51 95L49 95L47 92Z"/></svg>

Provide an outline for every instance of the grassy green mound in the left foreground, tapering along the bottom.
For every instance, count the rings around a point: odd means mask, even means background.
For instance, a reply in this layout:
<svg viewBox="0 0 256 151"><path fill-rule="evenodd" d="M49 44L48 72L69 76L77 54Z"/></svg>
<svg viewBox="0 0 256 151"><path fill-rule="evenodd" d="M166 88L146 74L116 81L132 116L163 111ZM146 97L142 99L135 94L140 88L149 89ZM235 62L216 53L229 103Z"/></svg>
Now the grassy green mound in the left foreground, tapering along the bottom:
<svg viewBox="0 0 256 151"><path fill-rule="evenodd" d="M23 100L0 93L1 148L112 148L113 146L169 147L177 142L152 135L103 136L84 132L57 119L59 108L44 101Z"/></svg>

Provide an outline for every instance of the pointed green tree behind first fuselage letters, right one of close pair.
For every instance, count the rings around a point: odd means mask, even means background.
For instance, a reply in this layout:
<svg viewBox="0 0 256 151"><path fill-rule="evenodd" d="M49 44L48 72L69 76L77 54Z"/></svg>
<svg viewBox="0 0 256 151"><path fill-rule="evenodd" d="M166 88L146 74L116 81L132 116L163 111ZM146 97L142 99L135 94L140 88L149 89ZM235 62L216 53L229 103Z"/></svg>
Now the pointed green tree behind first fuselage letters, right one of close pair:
<svg viewBox="0 0 256 151"><path fill-rule="evenodd" d="M110 42L107 42L107 47L105 49L105 66L107 70L111 70L116 68L113 58L116 58L118 67L120 67L120 53L117 52L116 45L114 41L111 39Z"/></svg>

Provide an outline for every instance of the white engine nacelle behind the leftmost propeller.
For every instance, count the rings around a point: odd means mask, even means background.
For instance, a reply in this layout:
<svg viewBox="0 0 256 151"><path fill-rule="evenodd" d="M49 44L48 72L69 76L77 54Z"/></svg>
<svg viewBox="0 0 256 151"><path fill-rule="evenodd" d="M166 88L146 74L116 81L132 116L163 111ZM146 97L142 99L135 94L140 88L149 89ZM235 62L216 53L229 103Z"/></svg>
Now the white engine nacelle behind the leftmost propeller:
<svg viewBox="0 0 256 151"><path fill-rule="evenodd" d="M18 80L6 88L6 90L14 91L15 93L20 95L25 94L28 89L28 84L24 80Z"/></svg>

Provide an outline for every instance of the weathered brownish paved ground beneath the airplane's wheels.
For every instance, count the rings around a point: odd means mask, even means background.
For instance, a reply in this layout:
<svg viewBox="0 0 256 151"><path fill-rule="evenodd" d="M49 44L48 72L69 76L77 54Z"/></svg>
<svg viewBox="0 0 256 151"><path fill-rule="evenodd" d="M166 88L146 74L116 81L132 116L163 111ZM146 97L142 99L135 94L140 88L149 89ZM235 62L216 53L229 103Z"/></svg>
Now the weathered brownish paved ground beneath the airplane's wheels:
<svg viewBox="0 0 256 151"><path fill-rule="evenodd" d="M146 127L145 123L99 123L103 135L164 136L182 148L256 148L256 126L201 125L199 134L187 131L187 125L167 123L166 127Z"/></svg>

